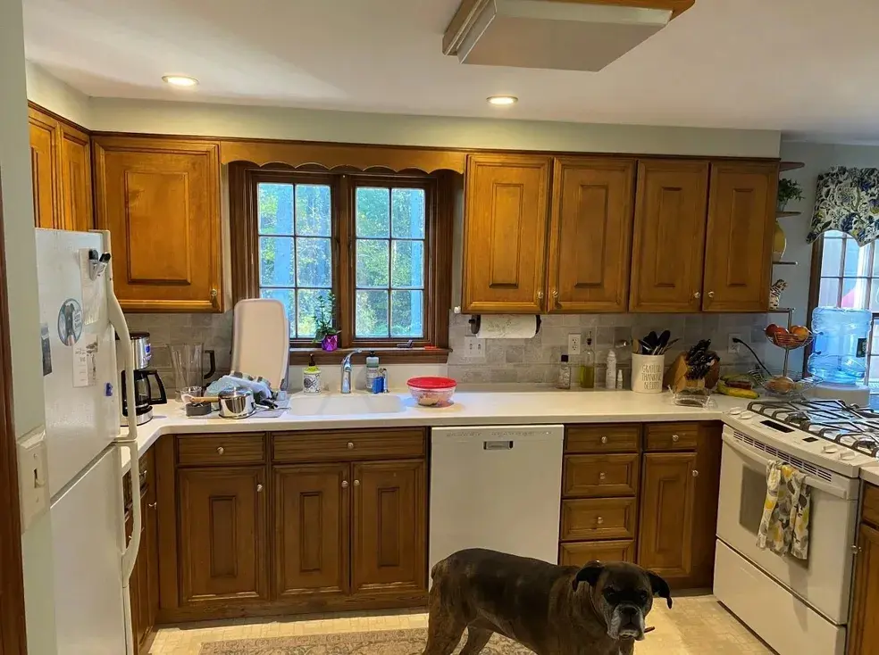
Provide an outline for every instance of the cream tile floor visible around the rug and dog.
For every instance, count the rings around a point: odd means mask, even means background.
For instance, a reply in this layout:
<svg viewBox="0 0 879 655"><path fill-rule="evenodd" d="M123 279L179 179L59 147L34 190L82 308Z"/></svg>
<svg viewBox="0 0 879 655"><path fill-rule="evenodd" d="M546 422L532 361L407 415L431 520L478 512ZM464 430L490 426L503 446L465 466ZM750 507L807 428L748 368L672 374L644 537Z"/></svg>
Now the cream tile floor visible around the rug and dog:
<svg viewBox="0 0 879 655"><path fill-rule="evenodd" d="M666 609L657 601L648 624L655 632L635 648L637 655L714 655L765 653L764 643L733 618L710 595L675 599L674 609ZM427 615L421 612L394 614L366 612L311 615L297 618L271 618L264 621L239 619L166 627L156 634L150 655L198 655L203 643L224 639L254 639L294 634L327 634L393 630L427 626Z"/></svg>

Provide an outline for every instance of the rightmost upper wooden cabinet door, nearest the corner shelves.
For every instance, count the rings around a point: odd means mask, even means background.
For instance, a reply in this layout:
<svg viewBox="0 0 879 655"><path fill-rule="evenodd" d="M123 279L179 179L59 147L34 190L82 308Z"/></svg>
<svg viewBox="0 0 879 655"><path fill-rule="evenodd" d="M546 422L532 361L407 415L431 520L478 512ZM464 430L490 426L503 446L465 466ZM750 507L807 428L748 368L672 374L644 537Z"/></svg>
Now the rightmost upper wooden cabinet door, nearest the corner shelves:
<svg viewBox="0 0 879 655"><path fill-rule="evenodd" d="M705 244L705 311L766 311L778 164L711 166Z"/></svg>

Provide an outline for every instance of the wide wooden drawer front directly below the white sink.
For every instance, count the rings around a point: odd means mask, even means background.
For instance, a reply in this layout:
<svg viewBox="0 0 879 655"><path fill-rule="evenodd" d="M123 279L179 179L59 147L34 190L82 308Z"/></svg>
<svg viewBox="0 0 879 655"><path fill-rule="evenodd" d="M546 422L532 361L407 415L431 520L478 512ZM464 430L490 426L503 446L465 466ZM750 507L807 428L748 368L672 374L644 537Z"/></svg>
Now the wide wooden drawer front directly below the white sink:
<svg viewBox="0 0 879 655"><path fill-rule="evenodd" d="M272 460L320 462L422 458L426 453L424 441L425 433L421 428L374 432L288 432L272 437Z"/></svg>

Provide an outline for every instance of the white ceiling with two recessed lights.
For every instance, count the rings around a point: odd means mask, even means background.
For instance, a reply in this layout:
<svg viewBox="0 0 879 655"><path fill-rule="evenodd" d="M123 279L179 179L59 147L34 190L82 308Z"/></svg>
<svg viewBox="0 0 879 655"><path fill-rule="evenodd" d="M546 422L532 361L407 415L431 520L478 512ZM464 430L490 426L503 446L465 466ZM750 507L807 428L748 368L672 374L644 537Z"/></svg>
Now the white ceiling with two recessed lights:
<svg viewBox="0 0 879 655"><path fill-rule="evenodd" d="M25 46L94 96L879 137L875 0L697 0L598 73L459 64L458 3L23 0Z"/></svg>

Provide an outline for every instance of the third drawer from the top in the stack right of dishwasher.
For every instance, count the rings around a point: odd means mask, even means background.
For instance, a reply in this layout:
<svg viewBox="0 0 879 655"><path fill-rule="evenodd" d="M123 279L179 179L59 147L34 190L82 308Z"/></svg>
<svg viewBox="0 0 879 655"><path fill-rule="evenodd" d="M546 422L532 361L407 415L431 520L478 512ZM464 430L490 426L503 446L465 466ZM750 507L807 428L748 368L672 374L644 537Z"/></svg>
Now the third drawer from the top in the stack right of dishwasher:
<svg viewBox="0 0 879 655"><path fill-rule="evenodd" d="M561 540L634 539L636 508L634 498L563 501Z"/></svg>

